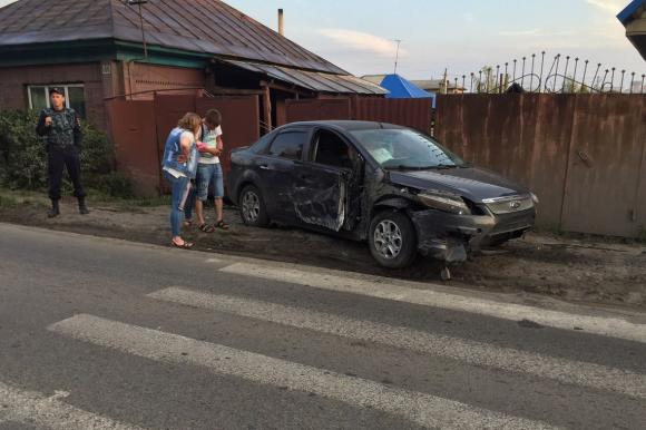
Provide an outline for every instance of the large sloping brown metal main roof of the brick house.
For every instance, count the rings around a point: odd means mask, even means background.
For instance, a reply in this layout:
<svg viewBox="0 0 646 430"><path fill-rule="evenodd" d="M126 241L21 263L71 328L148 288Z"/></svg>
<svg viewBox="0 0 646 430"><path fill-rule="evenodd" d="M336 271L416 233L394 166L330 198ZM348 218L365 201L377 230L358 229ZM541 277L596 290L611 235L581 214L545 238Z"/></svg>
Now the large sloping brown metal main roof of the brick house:
<svg viewBox="0 0 646 430"><path fill-rule="evenodd" d="M219 0L148 0L143 18L150 45L348 75ZM121 0L19 0L0 8L0 47L96 39L140 43L138 8Z"/></svg>

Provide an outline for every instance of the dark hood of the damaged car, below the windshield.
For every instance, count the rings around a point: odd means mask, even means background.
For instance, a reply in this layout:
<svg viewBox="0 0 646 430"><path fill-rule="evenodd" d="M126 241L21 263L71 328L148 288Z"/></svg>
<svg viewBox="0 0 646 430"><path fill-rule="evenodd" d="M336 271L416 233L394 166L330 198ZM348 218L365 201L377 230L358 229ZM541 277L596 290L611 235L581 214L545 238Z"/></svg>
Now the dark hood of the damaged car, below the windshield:
<svg viewBox="0 0 646 430"><path fill-rule="evenodd" d="M390 180L420 190L438 189L481 203L486 198L528 194L520 185L482 168L464 167L451 169L389 172Z"/></svg>

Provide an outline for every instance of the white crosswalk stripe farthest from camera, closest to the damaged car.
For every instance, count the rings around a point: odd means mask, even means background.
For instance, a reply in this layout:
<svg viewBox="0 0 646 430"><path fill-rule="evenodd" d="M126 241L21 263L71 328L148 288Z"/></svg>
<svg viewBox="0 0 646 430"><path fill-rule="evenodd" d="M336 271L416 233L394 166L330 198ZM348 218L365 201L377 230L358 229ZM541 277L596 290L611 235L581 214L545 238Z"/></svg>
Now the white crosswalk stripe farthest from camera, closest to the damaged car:
<svg viewBox="0 0 646 430"><path fill-rule="evenodd" d="M375 284L371 281L355 277L326 275L287 267L268 267L251 263L235 263L219 271L334 292L469 312L510 321L527 319L556 329L578 329L587 333L646 343L646 324L636 324L618 317L572 314L515 303L501 303L486 299L449 294L434 291L429 286L422 290L388 282Z"/></svg>

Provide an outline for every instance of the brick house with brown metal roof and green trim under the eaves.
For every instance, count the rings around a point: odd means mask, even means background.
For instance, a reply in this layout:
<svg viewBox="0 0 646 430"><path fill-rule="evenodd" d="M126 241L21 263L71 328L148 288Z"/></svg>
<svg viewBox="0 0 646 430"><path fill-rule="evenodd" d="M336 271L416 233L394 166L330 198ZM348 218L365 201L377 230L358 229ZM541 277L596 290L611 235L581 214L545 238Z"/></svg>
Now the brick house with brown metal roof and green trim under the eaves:
<svg viewBox="0 0 646 430"><path fill-rule="evenodd" d="M0 9L0 109L40 109L49 86L109 130L106 101L155 94L264 95L263 120L286 98L382 96L219 0L19 0ZM273 107L272 107L273 106Z"/></svg>

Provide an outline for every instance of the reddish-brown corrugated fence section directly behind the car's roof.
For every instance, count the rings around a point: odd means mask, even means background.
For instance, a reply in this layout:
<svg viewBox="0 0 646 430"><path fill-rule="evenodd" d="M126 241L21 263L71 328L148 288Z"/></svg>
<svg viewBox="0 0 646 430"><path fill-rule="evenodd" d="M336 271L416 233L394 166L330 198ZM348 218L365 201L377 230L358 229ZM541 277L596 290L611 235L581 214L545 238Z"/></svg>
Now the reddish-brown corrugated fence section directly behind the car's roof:
<svg viewBox="0 0 646 430"><path fill-rule="evenodd" d="M372 97L285 100L282 124L354 119L390 123L429 133L431 129L431 99L385 99Z"/></svg>

